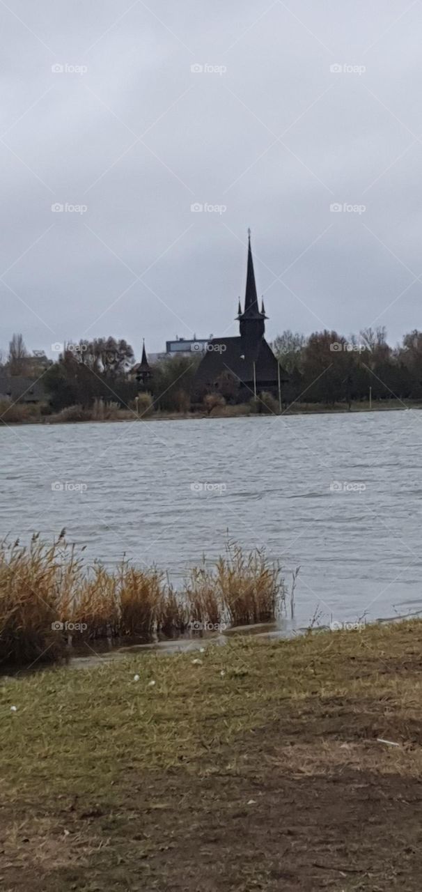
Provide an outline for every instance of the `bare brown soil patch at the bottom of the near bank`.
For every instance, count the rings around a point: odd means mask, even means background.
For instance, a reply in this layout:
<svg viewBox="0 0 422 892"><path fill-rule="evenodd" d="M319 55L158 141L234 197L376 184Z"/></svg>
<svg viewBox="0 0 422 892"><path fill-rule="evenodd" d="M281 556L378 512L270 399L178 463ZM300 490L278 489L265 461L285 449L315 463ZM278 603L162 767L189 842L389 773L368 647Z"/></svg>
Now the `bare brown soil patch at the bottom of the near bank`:
<svg viewBox="0 0 422 892"><path fill-rule="evenodd" d="M100 804L2 809L1 888L420 892L422 782L402 765L421 724L396 764L394 747L376 741L394 731L385 703L356 706L308 699L218 757L169 772L134 766Z"/></svg>

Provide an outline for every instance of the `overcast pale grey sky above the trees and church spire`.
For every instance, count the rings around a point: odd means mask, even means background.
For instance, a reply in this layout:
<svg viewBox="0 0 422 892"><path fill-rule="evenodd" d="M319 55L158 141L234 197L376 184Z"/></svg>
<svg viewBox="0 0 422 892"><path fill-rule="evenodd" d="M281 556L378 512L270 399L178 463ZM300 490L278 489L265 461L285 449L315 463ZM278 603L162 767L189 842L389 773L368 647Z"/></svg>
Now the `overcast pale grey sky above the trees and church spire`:
<svg viewBox="0 0 422 892"><path fill-rule="evenodd" d="M0 349L422 327L420 0L0 0ZM57 355L57 354L55 354Z"/></svg>

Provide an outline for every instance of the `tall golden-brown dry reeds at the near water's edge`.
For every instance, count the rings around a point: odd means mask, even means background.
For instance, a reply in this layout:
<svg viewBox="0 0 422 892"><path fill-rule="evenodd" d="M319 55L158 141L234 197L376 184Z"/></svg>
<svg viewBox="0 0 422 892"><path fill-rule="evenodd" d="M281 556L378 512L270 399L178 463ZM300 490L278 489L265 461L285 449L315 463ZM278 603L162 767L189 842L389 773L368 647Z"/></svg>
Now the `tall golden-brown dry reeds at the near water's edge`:
<svg viewBox="0 0 422 892"><path fill-rule="evenodd" d="M216 566L194 567L180 591L156 567L124 562L115 572L87 566L65 540L29 547L0 544L0 664L28 665L69 657L83 640L153 640L186 632L190 623L250 624L275 619L284 582L265 551L245 555L228 542Z"/></svg>

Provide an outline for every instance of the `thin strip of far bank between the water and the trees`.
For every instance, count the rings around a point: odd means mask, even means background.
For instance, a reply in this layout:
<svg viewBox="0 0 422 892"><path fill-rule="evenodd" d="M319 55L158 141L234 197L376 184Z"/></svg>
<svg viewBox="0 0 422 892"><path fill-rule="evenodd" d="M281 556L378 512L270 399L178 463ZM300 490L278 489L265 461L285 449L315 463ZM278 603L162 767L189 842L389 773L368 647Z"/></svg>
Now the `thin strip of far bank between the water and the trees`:
<svg viewBox="0 0 422 892"><path fill-rule="evenodd" d="M21 411L23 409L23 411ZM30 411L28 411L30 409ZM328 406L325 403L301 403L293 402L285 406L281 412L270 411L262 407L262 411L252 410L252 407L245 403L239 406L223 406L221 408L212 409L207 413L204 411L192 412L161 412L156 411L145 415L139 414L131 409L116 409L110 416L103 418L91 417L89 411L83 413L68 412L65 415L59 413L57 415L39 415L34 411L36 407L21 407L17 404L13 407L12 414L4 412L0 417L3 426L14 425L69 425L69 424L110 424L122 423L124 421L186 421L198 420L203 418L243 418L243 417L261 417L267 416L286 416L286 415L333 415L338 413L356 413L356 412L392 412L401 411L403 409L422 409L420 401L411 400L380 400L354 402L351 408L345 403L335 403ZM8 418L9 416L9 418Z"/></svg>

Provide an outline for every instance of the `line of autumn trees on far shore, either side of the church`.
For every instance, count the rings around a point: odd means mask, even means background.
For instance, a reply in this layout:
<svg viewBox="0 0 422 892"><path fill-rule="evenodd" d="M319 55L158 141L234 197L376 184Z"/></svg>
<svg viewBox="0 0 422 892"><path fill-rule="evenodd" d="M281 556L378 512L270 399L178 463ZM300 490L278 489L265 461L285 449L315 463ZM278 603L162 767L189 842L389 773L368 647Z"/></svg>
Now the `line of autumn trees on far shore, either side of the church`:
<svg viewBox="0 0 422 892"><path fill-rule="evenodd" d="M284 405L306 402L333 405L368 400L422 400L422 332L404 335L401 344L387 343L384 326L367 328L349 339L335 331L308 337L290 330L271 344L288 375L283 384ZM46 360L46 357L44 357ZM46 401L54 412L69 406L90 409L95 401L133 408L139 392L151 394L153 409L186 412L191 407L191 384L201 357L197 354L164 357L153 364L147 384L131 372L135 354L125 340L100 337L64 345L54 362L30 355L21 335L13 335L1 372L6 376L39 377ZM219 396L236 403L238 381L225 370Z"/></svg>

